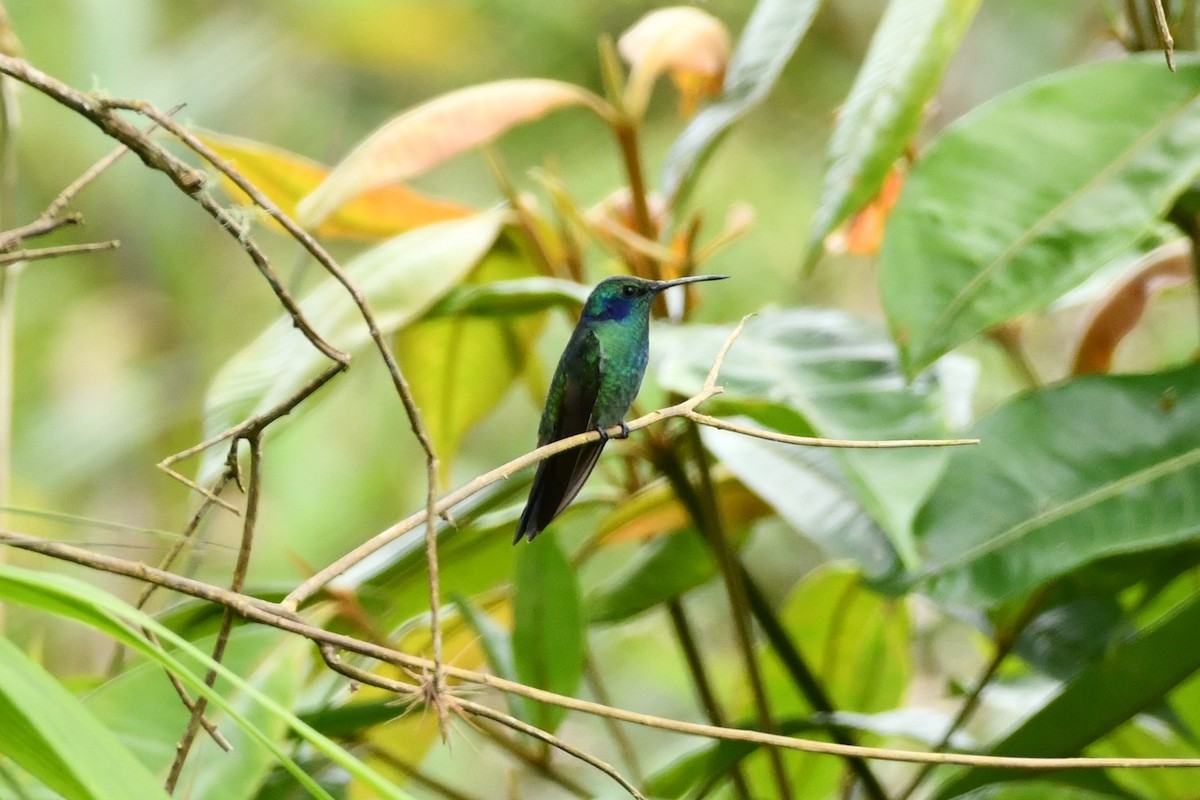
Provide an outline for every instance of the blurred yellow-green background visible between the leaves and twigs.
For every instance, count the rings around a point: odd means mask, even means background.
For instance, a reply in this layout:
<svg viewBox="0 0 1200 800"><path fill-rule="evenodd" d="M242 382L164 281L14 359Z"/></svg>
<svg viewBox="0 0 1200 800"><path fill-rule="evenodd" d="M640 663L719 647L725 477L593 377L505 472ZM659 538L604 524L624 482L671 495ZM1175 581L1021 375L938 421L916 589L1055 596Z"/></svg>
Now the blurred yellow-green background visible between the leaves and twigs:
<svg viewBox="0 0 1200 800"><path fill-rule="evenodd" d="M473 83L551 77L600 90L596 40L618 36L655 4L631 0L7 0L25 56L84 90L144 98L160 108L186 103L179 118L221 133L278 145L334 163L404 108ZM750 12L742 0L697 4L734 37ZM816 205L824 142L862 62L883 2L833 0L805 37L772 97L734 130L709 166L695 204L712 230L733 201L750 204L754 228L706 271L733 281L707 293L698 317L731 321L768 303L839 307L880 317L870 258L827 257L802 278L800 259ZM984 4L930 109L924 137L990 97L1072 64L1103 56L1110 42L1106 6L1074 0ZM16 139L18 191L12 227L36 217L113 143L74 114L23 91ZM682 130L676 98L660 84L644 134L648 174ZM918 143L919 145L920 143ZM620 185L610 137L590 115L568 110L506 136L498 150L522 188L528 170L552 164L584 206ZM478 154L422 176L433 194L487 207L502 193ZM179 530L194 499L155 469L202 438L205 387L217 369L280 314L252 264L215 223L157 173L125 158L76 204L83 229L44 243L119 239L110 253L31 264L17 313L12 500L16 530L120 547L154 560L164 547L145 529ZM256 234L290 285L314 273L299 248ZM348 257L356 245L337 243ZM612 270L588 265L595 281ZM1175 325L1194 324L1187 299L1166 297L1122 351L1171 360ZM1174 303L1174 305L1172 305ZM1172 321L1174 320L1174 321ZM1186 321L1184 321L1186 320ZM1031 331L1031 354L1046 378L1062 374L1056 342L1073 335L1068 309ZM545 369L571 320L552 320L542 337ZM1138 337L1146 339L1140 347ZM1180 337L1183 338L1183 337ZM1193 341L1187 338L1186 341ZM979 410L1019 381L986 344ZM1128 366L1128 365L1127 365ZM1157 366L1157 365L1147 365ZM1058 374L1055 371L1058 369ZM541 398L517 384L464 444L451 483L524 452L535 437ZM424 474L407 421L383 371L365 355L326 402L269 439L266 505L252 565L256 584L295 583L371 536L420 501ZM184 464L184 471L190 465ZM192 465L194 468L194 465ZM130 525L120 531L30 515L61 512ZM190 570L224 579L236 525L217 518ZM17 563L54 565L23 554ZM125 596L134 588L113 578ZM38 640L62 674L102 666L110 644L80 646L76 630L41 626L13 610L18 640ZM629 633L629 646L647 640ZM641 644L638 644L641 642ZM636 666L636 664L635 664ZM630 674L636 680L636 670ZM688 693L680 676L679 692Z"/></svg>

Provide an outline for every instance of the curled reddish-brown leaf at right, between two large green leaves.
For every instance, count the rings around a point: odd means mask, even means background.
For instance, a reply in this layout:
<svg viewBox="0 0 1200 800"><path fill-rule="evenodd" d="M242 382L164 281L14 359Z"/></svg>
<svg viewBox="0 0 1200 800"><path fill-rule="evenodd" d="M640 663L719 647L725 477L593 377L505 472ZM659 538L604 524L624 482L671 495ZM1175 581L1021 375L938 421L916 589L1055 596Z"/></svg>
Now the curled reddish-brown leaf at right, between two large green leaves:
<svg viewBox="0 0 1200 800"><path fill-rule="evenodd" d="M1193 277L1187 242L1168 242L1146 254L1138 271L1105 300L1084 331L1070 373L1106 373L1122 339L1141 320L1156 291L1184 285Z"/></svg>

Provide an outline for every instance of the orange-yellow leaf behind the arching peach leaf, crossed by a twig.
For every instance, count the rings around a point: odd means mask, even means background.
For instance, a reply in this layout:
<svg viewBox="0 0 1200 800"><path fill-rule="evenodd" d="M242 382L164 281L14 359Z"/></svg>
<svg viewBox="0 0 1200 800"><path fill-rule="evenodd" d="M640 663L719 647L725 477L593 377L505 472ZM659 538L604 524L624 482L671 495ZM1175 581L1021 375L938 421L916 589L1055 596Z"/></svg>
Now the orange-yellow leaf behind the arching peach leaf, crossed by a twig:
<svg viewBox="0 0 1200 800"><path fill-rule="evenodd" d="M217 133L198 133L204 144L230 162L280 210L295 217L296 204L329 175L329 168L281 148ZM224 175L221 185L242 205L250 197ZM424 197L401 186L382 186L343 205L313 231L329 239L388 239L413 228L458 219L474 211L458 203ZM270 219L270 217L265 217ZM269 224L276 225L274 221Z"/></svg>

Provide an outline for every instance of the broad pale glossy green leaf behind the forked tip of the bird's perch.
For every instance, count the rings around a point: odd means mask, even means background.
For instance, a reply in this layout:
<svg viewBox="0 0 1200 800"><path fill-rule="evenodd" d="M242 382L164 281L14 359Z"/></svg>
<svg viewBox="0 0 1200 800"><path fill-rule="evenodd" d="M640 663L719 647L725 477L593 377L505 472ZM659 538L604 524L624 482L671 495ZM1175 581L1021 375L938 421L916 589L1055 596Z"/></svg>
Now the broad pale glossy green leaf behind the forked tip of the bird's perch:
<svg viewBox="0 0 1200 800"><path fill-rule="evenodd" d="M665 353L660 383L691 395L700 389L727 327L666 327L654 332L655 347ZM956 362L955 362L956 363ZM760 425L784 433L839 439L937 438L946 434L944 419L952 404L964 404L971 381L947 381L949 367L906 384L895 345L878 326L835 311L768 311L751 319L721 368L725 393L701 410L716 415L748 415ZM775 449L769 443L743 443L743 451L792 462L793 469L815 470L820 483L834 486L836 471L853 487L854 497L887 533L863 533L860 560L872 576L890 569L895 549L906 565L916 564L910 525L922 498L932 487L946 461L940 449L821 451L811 447ZM832 453L832 455L830 455ZM730 468L750 488L772 482L768 470L754 463ZM811 485L811 480L809 483ZM775 483L780 481L774 480ZM797 512L806 499L787 492ZM770 498L764 497L768 503ZM776 506L779 509L779 506ZM820 524L820 521L815 521ZM806 523L808 524L808 523ZM822 525L829 529L828 524ZM892 545L887 543L890 539ZM845 554L845 551L841 551Z"/></svg>

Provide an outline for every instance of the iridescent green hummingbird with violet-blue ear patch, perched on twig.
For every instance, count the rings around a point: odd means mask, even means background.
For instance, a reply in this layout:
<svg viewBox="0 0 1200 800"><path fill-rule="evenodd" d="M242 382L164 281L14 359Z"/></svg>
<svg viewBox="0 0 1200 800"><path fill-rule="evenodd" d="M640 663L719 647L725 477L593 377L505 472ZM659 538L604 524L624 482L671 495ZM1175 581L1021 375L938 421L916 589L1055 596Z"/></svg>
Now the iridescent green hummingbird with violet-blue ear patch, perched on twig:
<svg viewBox="0 0 1200 800"><path fill-rule="evenodd" d="M623 433L617 438L629 435L624 417L646 375L654 299L671 287L726 277L696 275L647 281L617 276L601 281L592 290L550 381L538 446L586 431L599 431L602 438L538 464L514 545L522 539L533 541L580 493L608 441L606 428L619 425Z"/></svg>

